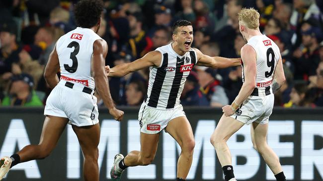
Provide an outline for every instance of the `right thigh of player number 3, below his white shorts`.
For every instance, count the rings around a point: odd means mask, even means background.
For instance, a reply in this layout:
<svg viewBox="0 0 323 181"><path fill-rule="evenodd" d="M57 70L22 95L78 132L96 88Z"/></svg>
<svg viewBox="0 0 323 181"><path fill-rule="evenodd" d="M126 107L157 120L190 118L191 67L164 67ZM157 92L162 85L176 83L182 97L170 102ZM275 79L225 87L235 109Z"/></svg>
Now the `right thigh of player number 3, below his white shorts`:
<svg viewBox="0 0 323 181"><path fill-rule="evenodd" d="M78 136L82 151L85 154L94 154L100 140L100 125L78 127L72 125L75 134Z"/></svg>

